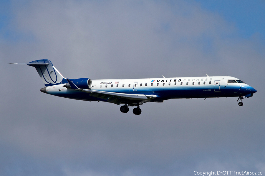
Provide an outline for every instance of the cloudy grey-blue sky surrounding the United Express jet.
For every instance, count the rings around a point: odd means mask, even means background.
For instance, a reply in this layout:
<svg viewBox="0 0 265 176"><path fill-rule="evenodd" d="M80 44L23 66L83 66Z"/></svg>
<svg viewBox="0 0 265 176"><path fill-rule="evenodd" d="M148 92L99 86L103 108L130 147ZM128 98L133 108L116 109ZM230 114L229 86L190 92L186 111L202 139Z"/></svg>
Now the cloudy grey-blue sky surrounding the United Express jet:
<svg viewBox="0 0 265 176"><path fill-rule="evenodd" d="M265 173L264 1L0 1L0 175ZM233 76L254 97L170 99L125 114L40 92L67 78ZM222 175L222 174L221 174Z"/></svg>

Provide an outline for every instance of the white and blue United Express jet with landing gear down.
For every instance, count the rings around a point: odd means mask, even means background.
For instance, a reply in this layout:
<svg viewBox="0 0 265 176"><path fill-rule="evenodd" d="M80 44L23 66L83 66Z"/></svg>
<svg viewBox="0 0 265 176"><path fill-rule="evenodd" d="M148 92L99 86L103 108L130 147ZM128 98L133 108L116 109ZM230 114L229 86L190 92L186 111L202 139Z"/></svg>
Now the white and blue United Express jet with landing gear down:
<svg viewBox="0 0 265 176"><path fill-rule="evenodd" d="M127 113L129 106L137 106L132 112L140 115L140 105L146 102L163 102L178 98L238 97L239 106L242 99L253 97L256 91L245 82L231 76L206 77L171 77L147 79L68 79L43 59L26 64L35 67L45 87L40 89L46 94L85 101L105 101L117 105L124 104L120 111Z"/></svg>

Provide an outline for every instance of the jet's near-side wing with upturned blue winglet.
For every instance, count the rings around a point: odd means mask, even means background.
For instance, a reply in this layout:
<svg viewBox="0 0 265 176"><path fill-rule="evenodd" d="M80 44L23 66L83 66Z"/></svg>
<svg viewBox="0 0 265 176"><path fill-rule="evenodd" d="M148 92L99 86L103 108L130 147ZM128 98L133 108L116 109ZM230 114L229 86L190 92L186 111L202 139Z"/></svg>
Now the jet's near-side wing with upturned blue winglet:
<svg viewBox="0 0 265 176"><path fill-rule="evenodd" d="M105 92L99 90L90 90L90 89L80 89L72 81L67 79L71 89L90 93L90 96L97 97L101 99L106 99L108 102L120 104L124 99L132 101L149 101L157 97L157 95L145 95L145 94L124 94L117 92Z"/></svg>

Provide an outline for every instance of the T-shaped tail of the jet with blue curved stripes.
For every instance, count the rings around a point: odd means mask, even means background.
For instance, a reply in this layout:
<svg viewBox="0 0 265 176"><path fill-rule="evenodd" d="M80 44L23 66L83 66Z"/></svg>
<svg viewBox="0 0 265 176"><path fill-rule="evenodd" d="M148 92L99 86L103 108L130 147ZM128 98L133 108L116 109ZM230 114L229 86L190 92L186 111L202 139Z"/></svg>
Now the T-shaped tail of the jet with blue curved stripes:
<svg viewBox="0 0 265 176"><path fill-rule="evenodd" d="M29 63L10 63L10 64L27 64L35 67L45 86L67 83L66 78L52 65L48 59L34 60Z"/></svg>

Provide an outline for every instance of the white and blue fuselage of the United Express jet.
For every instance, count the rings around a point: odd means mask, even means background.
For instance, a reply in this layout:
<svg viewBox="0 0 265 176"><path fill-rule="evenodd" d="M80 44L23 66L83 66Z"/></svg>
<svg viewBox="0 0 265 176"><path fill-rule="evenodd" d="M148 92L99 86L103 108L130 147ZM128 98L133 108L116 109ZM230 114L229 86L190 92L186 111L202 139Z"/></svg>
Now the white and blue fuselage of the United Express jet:
<svg viewBox="0 0 265 176"><path fill-rule="evenodd" d="M228 80L238 82L228 82ZM256 90L239 79L230 76L172 77L148 79L97 79L92 80L91 90L123 94L155 94L148 101L163 101L177 98L239 97L255 93ZM42 91L43 92L43 91ZM85 92L67 89L63 84L46 87L45 93L87 101L107 101Z"/></svg>

